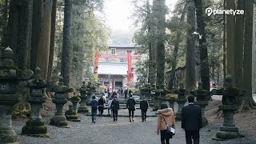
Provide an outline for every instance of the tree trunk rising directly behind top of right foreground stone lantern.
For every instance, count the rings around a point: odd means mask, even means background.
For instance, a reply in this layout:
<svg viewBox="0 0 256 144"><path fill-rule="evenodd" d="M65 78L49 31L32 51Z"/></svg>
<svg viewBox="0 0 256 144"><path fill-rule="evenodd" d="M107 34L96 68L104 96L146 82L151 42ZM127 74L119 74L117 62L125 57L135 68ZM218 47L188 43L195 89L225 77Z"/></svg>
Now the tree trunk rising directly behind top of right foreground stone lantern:
<svg viewBox="0 0 256 144"><path fill-rule="evenodd" d="M234 0L226 0L226 9L235 9ZM226 72L234 78L234 38L235 18L232 14L226 15Z"/></svg>

